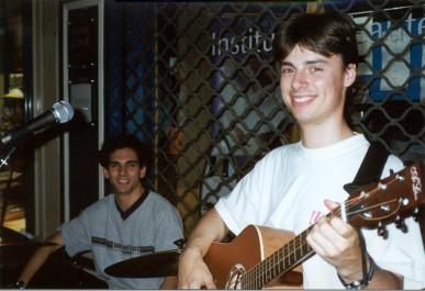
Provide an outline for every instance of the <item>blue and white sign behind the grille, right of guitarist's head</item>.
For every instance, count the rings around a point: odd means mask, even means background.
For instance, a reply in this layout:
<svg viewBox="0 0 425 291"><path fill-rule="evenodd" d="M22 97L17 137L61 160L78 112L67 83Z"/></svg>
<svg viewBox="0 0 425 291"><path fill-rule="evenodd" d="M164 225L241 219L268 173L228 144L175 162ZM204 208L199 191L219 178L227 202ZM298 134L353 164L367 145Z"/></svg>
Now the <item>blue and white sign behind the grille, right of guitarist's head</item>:
<svg viewBox="0 0 425 291"><path fill-rule="evenodd" d="M425 100L425 18L423 11L406 13L405 18L392 21L376 20L369 13L353 16L364 27L357 35L360 55L365 57L358 75L370 81L369 96L374 101L389 96L393 101Z"/></svg>

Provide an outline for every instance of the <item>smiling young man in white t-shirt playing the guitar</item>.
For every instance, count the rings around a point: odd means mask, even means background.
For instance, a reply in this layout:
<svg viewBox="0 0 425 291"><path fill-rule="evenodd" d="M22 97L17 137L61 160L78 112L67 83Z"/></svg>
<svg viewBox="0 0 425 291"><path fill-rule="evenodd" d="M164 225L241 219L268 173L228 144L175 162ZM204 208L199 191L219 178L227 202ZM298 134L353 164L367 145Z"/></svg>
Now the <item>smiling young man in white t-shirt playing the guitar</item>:
<svg viewBox="0 0 425 291"><path fill-rule="evenodd" d="M203 257L212 242L249 224L295 234L312 226L305 240L316 255L302 264L304 289L424 288L424 246L412 219L406 234L390 225L388 239L361 230L361 247L353 226L326 217L348 198L343 186L353 181L369 147L346 120L358 58L351 21L337 13L295 14L279 27L273 53L301 141L266 155L201 219L180 257L179 288L215 288ZM390 155L382 177L402 167Z"/></svg>

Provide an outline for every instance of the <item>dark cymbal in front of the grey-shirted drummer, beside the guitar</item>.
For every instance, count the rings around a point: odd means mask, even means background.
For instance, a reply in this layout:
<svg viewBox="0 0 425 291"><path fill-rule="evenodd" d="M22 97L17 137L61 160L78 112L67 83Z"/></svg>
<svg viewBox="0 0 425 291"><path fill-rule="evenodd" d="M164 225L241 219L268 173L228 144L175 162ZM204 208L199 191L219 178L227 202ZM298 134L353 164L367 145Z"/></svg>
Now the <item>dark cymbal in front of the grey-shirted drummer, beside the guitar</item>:
<svg viewBox="0 0 425 291"><path fill-rule="evenodd" d="M122 278L177 276L180 254L181 249L172 249L135 257L111 265L104 272Z"/></svg>

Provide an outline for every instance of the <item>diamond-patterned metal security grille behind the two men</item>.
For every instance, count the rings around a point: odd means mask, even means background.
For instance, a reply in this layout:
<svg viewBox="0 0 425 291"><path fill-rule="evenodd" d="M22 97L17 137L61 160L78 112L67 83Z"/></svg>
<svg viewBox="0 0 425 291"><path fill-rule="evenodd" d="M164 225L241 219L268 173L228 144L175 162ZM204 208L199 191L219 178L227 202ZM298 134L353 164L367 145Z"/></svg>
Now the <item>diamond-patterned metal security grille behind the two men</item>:
<svg viewBox="0 0 425 291"><path fill-rule="evenodd" d="M323 9L358 27L354 127L424 163L424 1L123 3L125 128L155 145L154 188L187 232L266 153L298 141L271 42L292 13Z"/></svg>

